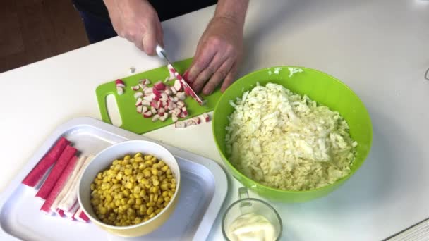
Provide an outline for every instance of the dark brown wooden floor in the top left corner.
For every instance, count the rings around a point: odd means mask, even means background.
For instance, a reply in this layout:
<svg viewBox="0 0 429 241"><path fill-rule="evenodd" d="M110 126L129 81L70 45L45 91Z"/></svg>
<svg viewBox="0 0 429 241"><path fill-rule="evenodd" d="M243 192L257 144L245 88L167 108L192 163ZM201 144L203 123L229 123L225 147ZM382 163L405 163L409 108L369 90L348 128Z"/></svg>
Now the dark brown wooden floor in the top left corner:
<svg viewBox="0 0 429 241"><path fill-rule="evenodd" d="M0 1L0 73L87 44L71 0Z"/></svg>

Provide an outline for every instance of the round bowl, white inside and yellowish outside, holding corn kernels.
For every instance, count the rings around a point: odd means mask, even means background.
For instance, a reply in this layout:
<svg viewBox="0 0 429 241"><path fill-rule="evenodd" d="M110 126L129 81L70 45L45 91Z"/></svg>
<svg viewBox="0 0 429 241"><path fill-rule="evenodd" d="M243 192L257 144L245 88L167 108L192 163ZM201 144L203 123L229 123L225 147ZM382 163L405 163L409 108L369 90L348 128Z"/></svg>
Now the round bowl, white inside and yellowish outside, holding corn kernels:
<svg viewBox="0 0 429 241"><path fill-rule="evenodd" d="M148 221L139 223L136 225L121 226L116 227L114 225L108 225L99 221L95 215L94 210L92 209L90 199L91 199L91 189L90 185L94 178L97 176L97 173L106 170L111 166L111 163L115 159L123 158L127 154L136 154L141 152L142 154L150 154L156 156L157 159L164 161L171 169L171 172L176 178L176 192L169 204L162 209L162 211L150 218ZM173 213L176 208L176 204L179 199L179 194L181 190L181 178L180 178L180 169L177 160L174 156L164 147L156 144L154 142L147 142L143 140L131 140L126 142L120 142L114 144L107 149L99 152L97 156L92 159L90 164L87 165L83 171L82 176L80 177L79 190L78 190L78 200L79 204L82 207L85 214L90 218L92 223L99 226L100 228L106 230L107 232L119 235L122 237L138 237L152 233L152 231L159 228L163 223L165 223L169 216Z"/></svg>

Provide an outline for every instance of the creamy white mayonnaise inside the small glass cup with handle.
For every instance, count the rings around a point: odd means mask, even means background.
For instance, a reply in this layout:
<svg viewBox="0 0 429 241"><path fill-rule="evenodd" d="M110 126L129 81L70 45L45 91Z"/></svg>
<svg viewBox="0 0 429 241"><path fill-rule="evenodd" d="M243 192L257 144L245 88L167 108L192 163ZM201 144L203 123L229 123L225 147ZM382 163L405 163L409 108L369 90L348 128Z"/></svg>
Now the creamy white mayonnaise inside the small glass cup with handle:
<svg viewBox="0 0 429 241"><path fill-rule="evenodd" d="M238 216L231 223L227 236L231 241L274 241L277 234L265 216L249 213Z"/></svg>

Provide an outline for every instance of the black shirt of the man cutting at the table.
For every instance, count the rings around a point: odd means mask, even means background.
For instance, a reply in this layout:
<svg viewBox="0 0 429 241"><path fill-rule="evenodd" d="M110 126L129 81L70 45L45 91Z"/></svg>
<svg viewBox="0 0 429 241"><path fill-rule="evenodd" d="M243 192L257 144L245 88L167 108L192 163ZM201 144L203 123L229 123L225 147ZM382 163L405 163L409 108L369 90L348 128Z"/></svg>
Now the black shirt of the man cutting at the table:
<svg viewBox="0 0 429 241"><path fill-rule="evenodd" d="M109 12L103 0L72 0L78 11L85 11L102 20L110 21ZM217 4L217 0L149 0L157 11L159 20L164 21L175 18L207 6Z"/></svg>

